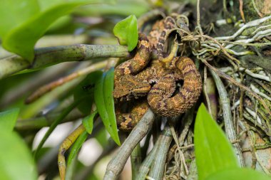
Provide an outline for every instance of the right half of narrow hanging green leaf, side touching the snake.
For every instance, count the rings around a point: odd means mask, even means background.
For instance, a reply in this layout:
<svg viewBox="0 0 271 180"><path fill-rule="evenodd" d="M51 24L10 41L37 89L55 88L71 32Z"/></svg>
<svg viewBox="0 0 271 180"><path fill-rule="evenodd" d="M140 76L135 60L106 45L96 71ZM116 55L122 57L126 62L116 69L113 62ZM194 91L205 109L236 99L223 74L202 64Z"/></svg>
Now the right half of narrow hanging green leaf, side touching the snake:
<svg viewBox="0 0 271 180"><path fill-rule="evenodd" d="M103 97L106 104L106 111L108 113L109 122L111 124L111 129L116 139L118 145L121 144L120 139L118 139L118 127L117 120L115 115L115 105L113 98L113 89L114 89L114 68L111 68L107 71L106 77L103 83Z"/></svg>

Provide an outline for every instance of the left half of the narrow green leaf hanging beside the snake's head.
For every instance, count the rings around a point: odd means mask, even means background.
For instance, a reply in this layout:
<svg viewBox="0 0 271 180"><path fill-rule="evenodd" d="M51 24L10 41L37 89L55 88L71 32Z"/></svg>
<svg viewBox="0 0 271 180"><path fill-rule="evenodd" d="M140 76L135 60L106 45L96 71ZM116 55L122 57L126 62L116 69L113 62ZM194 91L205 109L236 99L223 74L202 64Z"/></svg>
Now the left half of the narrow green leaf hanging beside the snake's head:
<svg viewBox="0 0 271 180"><path fill-rule="evenodd" d="M109 120L109 117L108 117L108 112L107 112L107 107L106 107L106 102L105 102L104 92L103 92L105 90L105 88L103 88L105 78L106 78L106 73L103 73L103 75L101 75L100 77L97 77L97 81L94 87L94 100L96 103L98 113L101 117L101 120L103 121L103 125L106 127L106 130L111 135L112 139L116 142L116 144L120 145L121 143L119 142L119 139L118 139L118 133L116 134L113 132L111 120Z"/></svg>

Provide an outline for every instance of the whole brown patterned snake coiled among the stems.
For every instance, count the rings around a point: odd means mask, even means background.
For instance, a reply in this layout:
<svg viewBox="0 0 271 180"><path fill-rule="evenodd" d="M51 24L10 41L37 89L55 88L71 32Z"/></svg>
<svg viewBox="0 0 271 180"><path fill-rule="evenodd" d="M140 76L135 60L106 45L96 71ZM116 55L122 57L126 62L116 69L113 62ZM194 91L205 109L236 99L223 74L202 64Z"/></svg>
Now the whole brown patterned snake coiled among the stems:
<svg viewBox="0 0 271 180"><path fill-rule="evenodd" d="M148 107L161 116L178 116L195 104L202 90L200 74L193 60L174 57L169 66L163 62L165 40L169 31L176 27L175 17L168 16L155 24L148 38L143 33L139 34L134 58L121 63L115 70L113 96L121 130L133 129ZM151 48L157 49L158 60L150 60ZM175 92L179 80L183 80L183 86ZM138 100L135 102L135 99ZM128 107L131 110L123 111L123 102L130 103L132 106Z"/></svg>

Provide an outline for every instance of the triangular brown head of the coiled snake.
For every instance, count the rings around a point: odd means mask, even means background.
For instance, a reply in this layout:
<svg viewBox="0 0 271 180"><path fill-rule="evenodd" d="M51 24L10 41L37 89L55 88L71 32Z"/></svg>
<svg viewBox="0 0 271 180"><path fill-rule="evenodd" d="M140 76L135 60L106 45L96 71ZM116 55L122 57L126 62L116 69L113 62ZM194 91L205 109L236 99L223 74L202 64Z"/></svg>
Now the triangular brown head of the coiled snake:
<svg viewBox="0 0 271 180"><path fill-rule="evenodd" d="M143 97L150 91L150 84L136 80L133 75L124 75L115 82L113 97L120 101L128 101Z"/></svg>

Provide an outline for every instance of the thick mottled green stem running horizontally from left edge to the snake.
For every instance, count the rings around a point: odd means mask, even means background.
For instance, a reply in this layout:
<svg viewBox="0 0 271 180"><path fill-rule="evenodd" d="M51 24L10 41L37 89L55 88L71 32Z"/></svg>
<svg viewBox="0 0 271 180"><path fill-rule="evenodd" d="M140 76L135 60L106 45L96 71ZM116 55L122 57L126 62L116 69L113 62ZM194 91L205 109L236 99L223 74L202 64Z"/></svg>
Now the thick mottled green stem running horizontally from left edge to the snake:
<svg viewBox="0 0 271 180"><path fill-rule="evenodd" d="M86 45L55 46L37 48L32 63L19 55L1 59L0 79L25 69L42 68L48 65L68 61L82 61L93 58L128 58L127 46L119 45Z"/></svg>

